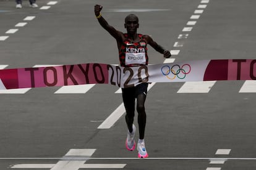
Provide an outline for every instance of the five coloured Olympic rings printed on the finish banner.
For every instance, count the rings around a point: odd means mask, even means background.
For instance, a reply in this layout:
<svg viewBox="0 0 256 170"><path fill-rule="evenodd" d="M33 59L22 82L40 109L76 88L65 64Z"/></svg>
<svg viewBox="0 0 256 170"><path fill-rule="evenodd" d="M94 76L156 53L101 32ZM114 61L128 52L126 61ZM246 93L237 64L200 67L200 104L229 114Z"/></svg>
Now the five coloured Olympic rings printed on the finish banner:
<svg viewBox="0 0 256 170"><path fill-rule="evenodd" d="M161 71L164 76L168 79L175 79L176 77L179 79L186 78L186 75L190 73L191 67L189 64L180 65L173 65L173 67L169 67L169 65L164 65L161 68Z"/></svg>

